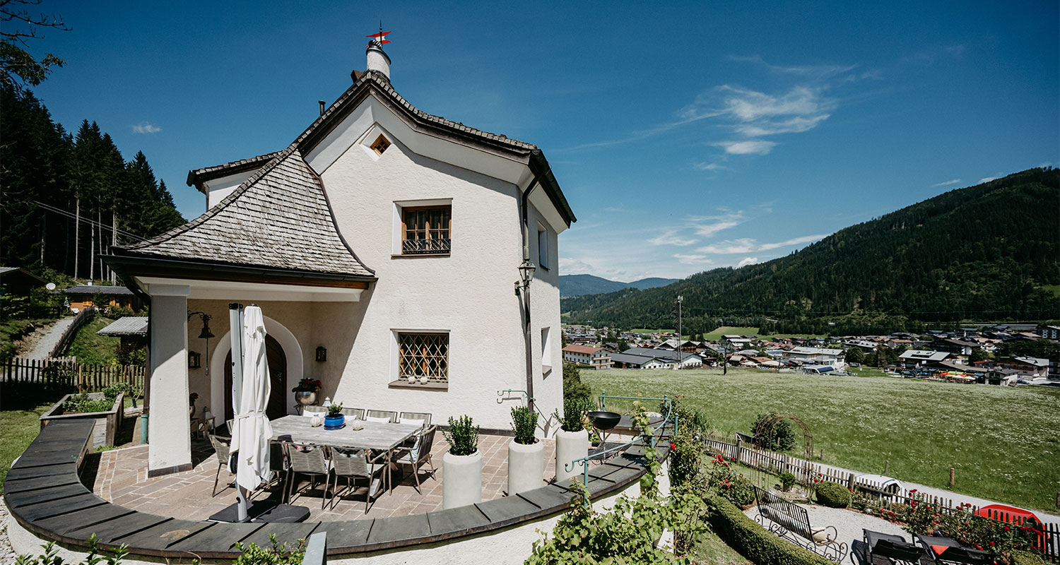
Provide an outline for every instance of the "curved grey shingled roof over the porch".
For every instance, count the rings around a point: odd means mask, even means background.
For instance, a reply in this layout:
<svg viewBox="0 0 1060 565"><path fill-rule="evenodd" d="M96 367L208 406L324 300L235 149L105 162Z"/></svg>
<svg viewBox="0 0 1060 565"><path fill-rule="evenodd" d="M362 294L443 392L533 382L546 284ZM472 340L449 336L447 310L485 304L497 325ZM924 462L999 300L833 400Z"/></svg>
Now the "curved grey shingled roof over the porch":
<svg viewBox="0 0 1060 565"><path fill-rule="evenodd" d="M116 254L374 277L339 234L320 179L294 144L201 216Z"/></svg>

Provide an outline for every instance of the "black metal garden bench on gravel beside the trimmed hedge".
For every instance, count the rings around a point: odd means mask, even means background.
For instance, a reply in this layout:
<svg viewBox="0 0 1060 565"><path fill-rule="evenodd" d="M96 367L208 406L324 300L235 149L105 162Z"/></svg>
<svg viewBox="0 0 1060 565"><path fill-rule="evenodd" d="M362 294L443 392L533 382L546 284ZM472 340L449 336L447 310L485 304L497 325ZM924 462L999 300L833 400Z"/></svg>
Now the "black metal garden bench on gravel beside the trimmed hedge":
<svg viewBox="0 0 1060 565"><path fill-rule="evenodd" d="M763 528L836 563L846 557L847 544L838 542L835 527L813 528L805 508L758 487L755 487L755 501L756 519Z"/></svg>

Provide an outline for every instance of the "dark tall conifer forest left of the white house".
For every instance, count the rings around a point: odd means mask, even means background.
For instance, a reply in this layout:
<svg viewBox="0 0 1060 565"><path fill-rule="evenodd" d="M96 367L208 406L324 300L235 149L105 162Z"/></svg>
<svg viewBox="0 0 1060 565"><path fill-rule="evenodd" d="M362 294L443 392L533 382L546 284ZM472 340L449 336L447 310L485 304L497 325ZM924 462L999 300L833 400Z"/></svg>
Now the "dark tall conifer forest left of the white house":
<svg viewBox="0 0 1060 565"><path fill-rule="evenodd" d="M111 246L184 223L143 153L125 160L94 122L71 135L10 81L0 108L0 265L116 281Z"/></svg>

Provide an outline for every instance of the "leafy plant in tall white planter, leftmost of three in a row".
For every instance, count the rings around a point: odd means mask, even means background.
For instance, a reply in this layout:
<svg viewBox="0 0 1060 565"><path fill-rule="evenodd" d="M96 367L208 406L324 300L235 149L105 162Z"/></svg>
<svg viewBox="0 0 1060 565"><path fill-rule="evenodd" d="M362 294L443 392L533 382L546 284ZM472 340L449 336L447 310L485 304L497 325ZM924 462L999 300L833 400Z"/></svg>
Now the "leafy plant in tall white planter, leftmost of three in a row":
<svg viewBox="0 0 1060 565"><path fill-rule="evenodd" d="M478 451L478 426L470 416L449 417L443 431L449 451L442 456L442 509L482 501L482 453Z"/></svg>

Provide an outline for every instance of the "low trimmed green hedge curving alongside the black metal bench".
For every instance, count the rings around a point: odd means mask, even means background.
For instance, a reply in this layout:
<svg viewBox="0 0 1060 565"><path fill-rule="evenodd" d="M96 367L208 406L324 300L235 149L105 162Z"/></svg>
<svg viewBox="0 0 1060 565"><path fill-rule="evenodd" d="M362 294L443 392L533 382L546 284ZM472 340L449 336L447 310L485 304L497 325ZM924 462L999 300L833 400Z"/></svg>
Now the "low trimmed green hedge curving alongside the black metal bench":
<svg viewBox="0 0 1060 565"><path fill-rule="evenodd" d="M721 496L707 499L714 532L732 549L758 565L835 565L759 526Z"/></svg>

